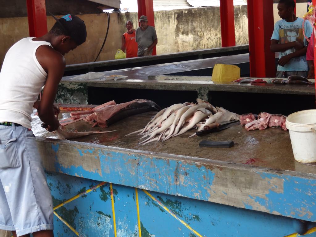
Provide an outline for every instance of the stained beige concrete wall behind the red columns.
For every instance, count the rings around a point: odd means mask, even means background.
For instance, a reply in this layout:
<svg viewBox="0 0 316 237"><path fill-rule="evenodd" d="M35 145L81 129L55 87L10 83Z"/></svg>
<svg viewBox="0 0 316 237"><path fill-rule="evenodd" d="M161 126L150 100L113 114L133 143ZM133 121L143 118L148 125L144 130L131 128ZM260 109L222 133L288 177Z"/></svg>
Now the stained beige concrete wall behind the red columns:
<svg viewBox="0 0 316 237"><path fill-rule="evenodd" d="M279 20L277 4L274 6L274 21ZM306 12L307 3L297 4L297 15ZM96 58L107 28L106 14L80 15L87 25L86 43L68 53L67 64L93 62ZM132 20L138 27L137 13L111 13L110 27L105 46L98 58L114 59L115 52L121 46L121 35L125 32L125 22ZM47 17L48 29L54 24ZM155 11L155 28L158 36L157 54L185 52L221 46L221 28L219 7L178 9ZM9 47L23 37L28 37L27 17L0 18L0 64ZM229 36L225 36L229 37ZM235 6L236 45L248 43L247 6Z"/></svg>

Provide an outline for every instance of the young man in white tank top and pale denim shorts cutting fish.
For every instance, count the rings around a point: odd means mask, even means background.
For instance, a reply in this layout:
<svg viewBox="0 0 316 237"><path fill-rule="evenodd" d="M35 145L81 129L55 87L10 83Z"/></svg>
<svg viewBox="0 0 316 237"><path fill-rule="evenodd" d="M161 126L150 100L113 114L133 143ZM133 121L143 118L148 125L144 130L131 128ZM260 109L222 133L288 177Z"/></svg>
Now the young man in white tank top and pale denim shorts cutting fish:
<svg viewBox="0 0 316 237"><path fill-rule="evenodd" d="M0 72L0 229L13 236L53 236L52 197L31 130L31 113L37 108L47 130L58 129L54 115L59 111L53 103L64 74L64 55L87 37L79 17L55 19L46 35L15 43Z"/></svg>

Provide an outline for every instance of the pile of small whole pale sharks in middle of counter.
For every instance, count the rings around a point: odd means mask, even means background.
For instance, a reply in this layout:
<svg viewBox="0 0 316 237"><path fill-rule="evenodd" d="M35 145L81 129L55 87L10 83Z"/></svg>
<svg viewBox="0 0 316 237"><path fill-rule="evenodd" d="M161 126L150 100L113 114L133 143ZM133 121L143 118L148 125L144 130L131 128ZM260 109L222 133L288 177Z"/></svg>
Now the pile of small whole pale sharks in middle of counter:
<svg viewBox="0 0 316 237"><path fill-rule="evenodd" d="M140 139L144 140L139 144L143 145L154 141L166 141L193 128L198 128L198 131L215 128L219 126L219 122L239 120L239 117L240 115L236 113L197 99L197 104L185 102L161 110L143 129L126 136L135 133L141 135Z"/></svg>

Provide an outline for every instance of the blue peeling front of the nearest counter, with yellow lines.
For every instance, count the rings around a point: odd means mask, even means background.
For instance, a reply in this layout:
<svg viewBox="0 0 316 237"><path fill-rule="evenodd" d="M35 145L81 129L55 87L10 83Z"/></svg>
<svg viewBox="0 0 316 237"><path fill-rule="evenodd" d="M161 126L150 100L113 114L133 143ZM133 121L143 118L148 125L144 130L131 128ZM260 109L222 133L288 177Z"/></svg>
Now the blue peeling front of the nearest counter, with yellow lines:
<svg viewBox="0 0 316 237"><path fill-rule="evenodd" d="M314 174L54 139L38 143L54 206L106 182L55 210L74 230L56 217L56 236L282 237L316 226Z"/></svg>

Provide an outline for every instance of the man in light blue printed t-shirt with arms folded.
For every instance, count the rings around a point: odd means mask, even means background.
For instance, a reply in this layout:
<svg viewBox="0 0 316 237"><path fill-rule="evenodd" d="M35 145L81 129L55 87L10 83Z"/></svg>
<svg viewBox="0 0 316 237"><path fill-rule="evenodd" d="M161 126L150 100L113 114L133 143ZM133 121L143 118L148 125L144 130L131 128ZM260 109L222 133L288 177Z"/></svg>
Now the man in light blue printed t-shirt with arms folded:
<svg viewBox="0 0 316 237"><path fill-rule="evenodd" d="M300 75L307 77L307 38L310 38L313 32L312 25L296 17L294 13L294 0L280 0L277 9L282 20L274 25L274 31L271 37L271 51L279 52L279 61L276 71L276 77L285 78L291 75Z"/></svg>

